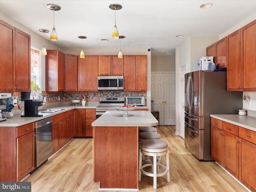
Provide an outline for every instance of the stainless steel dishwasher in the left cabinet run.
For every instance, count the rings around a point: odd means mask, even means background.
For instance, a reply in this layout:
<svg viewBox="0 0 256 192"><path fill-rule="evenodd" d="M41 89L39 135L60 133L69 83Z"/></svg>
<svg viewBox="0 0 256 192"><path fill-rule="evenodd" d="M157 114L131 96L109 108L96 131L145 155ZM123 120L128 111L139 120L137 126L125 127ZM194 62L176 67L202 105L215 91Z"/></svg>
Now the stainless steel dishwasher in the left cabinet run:
<svg viewBox="0 0 256 192"><path fill-rule="evenodd" d="M36 127L36 162L39 167L52 156L52 117L35 122Z"/></svg>

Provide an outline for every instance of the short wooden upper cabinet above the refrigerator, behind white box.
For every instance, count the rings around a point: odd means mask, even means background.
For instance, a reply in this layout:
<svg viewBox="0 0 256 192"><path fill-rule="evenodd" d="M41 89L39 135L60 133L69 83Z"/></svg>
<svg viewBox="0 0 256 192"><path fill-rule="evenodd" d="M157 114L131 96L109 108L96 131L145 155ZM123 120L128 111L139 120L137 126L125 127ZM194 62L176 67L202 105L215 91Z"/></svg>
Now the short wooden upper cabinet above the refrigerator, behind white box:
<svg viewBox="0 0 256 192"><path fill-rule="evenodd" d="M226 37L206 48L206 56L213 56L219 68L226 68Z"/></svg>

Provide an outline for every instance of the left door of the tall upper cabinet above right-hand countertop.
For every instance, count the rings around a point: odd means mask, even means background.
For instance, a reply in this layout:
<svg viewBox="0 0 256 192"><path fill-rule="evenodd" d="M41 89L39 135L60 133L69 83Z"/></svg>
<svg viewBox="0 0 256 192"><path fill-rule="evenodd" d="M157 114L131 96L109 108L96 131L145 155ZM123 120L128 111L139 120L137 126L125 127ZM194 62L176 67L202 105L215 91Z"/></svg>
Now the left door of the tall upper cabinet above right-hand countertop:
<svg viewBox="0 0 256 192"><path fill-rule="evenodd" d="M227 36L227 91L242 91L240 30Z"/></svg>

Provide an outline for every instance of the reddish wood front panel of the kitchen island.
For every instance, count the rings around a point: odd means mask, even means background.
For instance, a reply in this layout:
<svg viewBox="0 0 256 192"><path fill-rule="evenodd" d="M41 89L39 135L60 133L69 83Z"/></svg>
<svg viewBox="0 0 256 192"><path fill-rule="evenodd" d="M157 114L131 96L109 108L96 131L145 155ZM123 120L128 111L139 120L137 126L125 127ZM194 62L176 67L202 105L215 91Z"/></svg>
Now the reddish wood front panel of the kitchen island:
<svg viewBox="0 0 256 192"><path fill-rule="evenodd" d="M138 127L94 127L94 182L138 189Z"/></svg>

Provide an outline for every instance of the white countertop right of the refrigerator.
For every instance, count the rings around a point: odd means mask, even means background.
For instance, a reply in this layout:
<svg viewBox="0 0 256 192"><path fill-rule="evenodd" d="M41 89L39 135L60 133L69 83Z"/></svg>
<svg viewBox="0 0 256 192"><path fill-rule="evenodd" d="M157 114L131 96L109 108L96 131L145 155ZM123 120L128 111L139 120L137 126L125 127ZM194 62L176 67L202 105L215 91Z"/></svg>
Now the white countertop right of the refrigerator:
<svg viewBox="0 0 256 192"><path fill-rule="evenodd" d="M238 114L211 114L213 118L256 131L256 117Z"/></svg>

